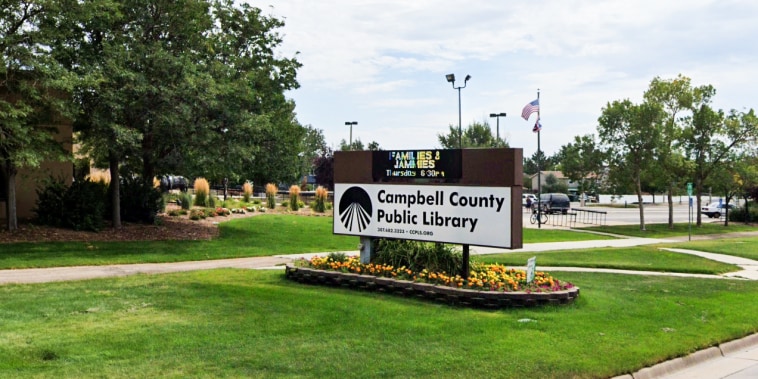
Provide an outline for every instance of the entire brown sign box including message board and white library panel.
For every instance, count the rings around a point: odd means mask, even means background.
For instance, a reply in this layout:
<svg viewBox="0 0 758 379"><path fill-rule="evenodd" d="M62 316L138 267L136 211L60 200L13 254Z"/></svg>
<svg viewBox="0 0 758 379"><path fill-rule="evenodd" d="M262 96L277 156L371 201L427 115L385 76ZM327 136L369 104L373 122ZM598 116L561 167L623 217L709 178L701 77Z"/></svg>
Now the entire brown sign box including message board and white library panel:
<svg viewBox="0 0 758 379"><path fill-rule="evenodd" d="M500 185L515 172L505 165L516 149L481 150L335 153L334 233L521 247L520 165L518 178ZM511 159L492 160L505 152ZM468 176L467 163L475 165Z"/></svg>

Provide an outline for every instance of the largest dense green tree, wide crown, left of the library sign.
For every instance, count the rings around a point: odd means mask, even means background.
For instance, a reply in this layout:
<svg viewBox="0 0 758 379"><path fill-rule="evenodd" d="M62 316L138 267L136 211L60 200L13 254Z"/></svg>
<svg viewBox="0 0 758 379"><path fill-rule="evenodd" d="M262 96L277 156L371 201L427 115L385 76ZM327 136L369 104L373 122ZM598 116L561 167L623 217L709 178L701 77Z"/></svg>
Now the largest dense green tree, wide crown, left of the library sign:
<svg viewBox="0 0 758 379"><path fill-rule="evenodd" d="M114 198L120 167L145 181L297 180L306 131L284 92L300 64L276 57L281 21L231 0L75 5L56 51L77 74L77 130L108 162Z"/></svg>

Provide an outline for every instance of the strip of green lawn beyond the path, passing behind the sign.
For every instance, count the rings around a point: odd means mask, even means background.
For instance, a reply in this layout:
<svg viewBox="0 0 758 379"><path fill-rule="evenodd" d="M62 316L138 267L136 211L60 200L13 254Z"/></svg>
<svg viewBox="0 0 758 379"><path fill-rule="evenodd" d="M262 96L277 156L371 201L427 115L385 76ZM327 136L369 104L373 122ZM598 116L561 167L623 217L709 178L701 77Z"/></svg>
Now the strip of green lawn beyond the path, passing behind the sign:
<svg viewBox="0 0 758 379"><path fill-rule="evenodd" d="M180 262L358 250L355 236L332 234L331 217L261 215L222 222L213 241L48 242L0 245L0 269ZM526 229L525 243L610 237Z"/></svg>

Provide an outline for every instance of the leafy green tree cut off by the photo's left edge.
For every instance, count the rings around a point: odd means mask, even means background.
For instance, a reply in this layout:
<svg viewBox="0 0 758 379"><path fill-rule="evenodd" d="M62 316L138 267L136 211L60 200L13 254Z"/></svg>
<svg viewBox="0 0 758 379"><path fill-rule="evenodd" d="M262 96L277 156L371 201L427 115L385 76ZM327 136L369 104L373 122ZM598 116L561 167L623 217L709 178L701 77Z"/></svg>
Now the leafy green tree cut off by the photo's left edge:
<svg viewBox="0 0 758 379"><path fill-rule="evenodd" d="M55 28L50 19L57 3L46 0L0 0L0 169L6 197L8 230L18 229L16 175L22 167L39 167L46 159L64 159L49 118L62 96L55 81L62 74L50 57Z"/></svg>

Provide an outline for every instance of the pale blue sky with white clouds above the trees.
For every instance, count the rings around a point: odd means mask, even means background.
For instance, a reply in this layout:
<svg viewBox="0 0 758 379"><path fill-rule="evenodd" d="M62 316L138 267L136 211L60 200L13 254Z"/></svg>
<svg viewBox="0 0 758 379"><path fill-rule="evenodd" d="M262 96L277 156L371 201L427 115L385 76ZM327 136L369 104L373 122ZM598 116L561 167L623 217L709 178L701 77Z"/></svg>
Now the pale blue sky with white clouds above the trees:
<svg viewBox="0 0 758 379"><path fill-rule="evenodd" d="M328 145L376 141L384 150L441 148L438 135L488 122L524 157L537 134L521 118L539 91L548 156L597 135L614 100L640 102L655 77L716 89L713 106L758 107L754 0L240 0L285 22L281 57L296 57L287 92L302 125ZM507 113L490 118L491 113Z"/></svg>

